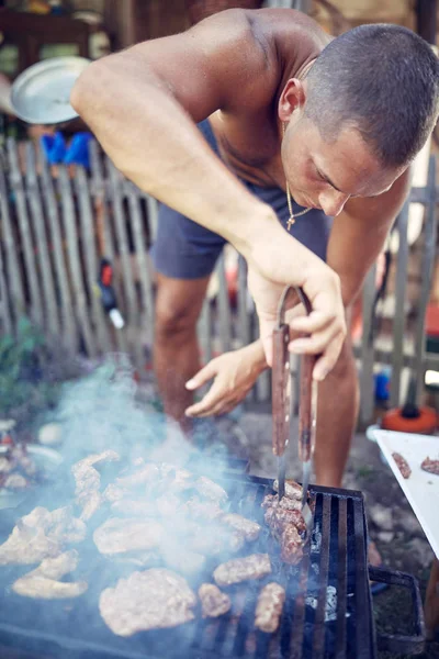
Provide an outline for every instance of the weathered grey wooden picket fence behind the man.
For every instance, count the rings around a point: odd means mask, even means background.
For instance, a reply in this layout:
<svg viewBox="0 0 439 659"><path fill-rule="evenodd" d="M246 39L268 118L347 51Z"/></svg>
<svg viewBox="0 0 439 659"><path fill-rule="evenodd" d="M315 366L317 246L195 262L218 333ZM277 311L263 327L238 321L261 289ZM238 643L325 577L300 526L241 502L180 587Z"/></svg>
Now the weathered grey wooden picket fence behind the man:
<svg viewBox="0 0 439 659"><path fill-rule="evenodd" d="M20 146L20 148L19 148ZM128 353L143 370L154 342L154 275L149 247L157 227L157 203L127 181L91 144L90 172L82 167L49 168L32 143L7 143L5 165L0 169L0 327L14 332L25 314L41 326L48 340L65 353L82 351L97 358L106 351ZM376 361L393 368L392 401L401 398L404 366L412 366L419 382L434 355L424 353L424 314L428 301L436 246L435 160L430 161L426 189L414 189L412 200L427 208L425 258L415 347L403 340L404 295L408 245L408 203L398 219L401 249L396 276L394 349L380 349L370 332L374 310L374 275L363 294L364 332L357 348L361 365L362 418L372 416L373 369ZM116 330L103 310L97 287L100 264L114 266L114 289L125 319ZM203 305L199 337L203 359L255 340L258 324L247 291L246 265L238 260L234 303L227 290L224 254L215 270L215 294ZM412 351L410 351L412 350ZM251 394L269 401L270 378L263 373Z"/></svg>

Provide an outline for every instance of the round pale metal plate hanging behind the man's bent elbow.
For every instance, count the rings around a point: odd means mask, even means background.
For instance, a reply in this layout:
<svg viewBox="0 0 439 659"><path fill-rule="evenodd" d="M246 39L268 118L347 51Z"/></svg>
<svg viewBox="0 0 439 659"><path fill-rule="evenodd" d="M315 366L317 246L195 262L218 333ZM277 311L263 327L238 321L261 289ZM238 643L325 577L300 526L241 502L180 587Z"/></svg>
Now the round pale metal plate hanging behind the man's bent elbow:
<svg viewBox="0 0 439 659"><path fill-rule="evenodd" d="M70 91L89 64L85 57L52 57L24 70L12 85L16 115L31 124L56 124L78 116L70 105Z"/></svg>

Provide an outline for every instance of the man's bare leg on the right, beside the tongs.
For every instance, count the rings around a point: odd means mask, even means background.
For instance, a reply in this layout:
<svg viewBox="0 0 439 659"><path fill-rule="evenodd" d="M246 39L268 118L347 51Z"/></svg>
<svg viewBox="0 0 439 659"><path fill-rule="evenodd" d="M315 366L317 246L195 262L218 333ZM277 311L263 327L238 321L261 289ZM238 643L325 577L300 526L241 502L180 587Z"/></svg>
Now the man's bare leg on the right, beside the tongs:
<svg viewBox="0 0 439 659"><path fill-rule="evenodd" d="M350 338L347 338L335 368L318 386L314 468L319 485L341 488L358 409L357 367Z"/></svg>

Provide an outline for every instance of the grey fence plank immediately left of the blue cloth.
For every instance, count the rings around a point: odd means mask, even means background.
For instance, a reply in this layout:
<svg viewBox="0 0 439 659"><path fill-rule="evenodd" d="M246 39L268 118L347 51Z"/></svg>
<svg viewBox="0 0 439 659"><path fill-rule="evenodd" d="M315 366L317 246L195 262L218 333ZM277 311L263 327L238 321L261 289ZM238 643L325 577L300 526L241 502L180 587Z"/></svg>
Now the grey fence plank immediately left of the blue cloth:
<svg viewBox="0 0 439 659"><path fill-rule="evenodd" d="M52 172L41 149L37 150L37 167L42 177L42 198L45 216L48 220L52 248L54 254L55 280L58 289L60 305L61 332L58 340L70 355L76 355L79 345L78 326L74 316L74 305L71 300L58 201L55 194Z"/></svg>

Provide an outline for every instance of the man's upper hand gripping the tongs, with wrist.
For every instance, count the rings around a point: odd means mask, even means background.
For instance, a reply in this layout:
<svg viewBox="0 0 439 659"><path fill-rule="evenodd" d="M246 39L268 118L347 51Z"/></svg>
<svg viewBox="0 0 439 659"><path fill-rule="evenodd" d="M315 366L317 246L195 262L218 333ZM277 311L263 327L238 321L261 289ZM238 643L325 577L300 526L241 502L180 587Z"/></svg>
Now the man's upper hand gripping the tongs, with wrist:
<svg viewBox="0 0 439 659"><path fill-rule="evenodd" d="M279 299L285 286L301 286L313 311L295 316L290 327L305 336L294 338L289 349L295 354L320 355L313 376L323 380L335 366L346 336L340 280L322 259L300 245L278 224L270 235L254 238L248 260L248 283L260 323L260 337L267 361L272 364L272 331Z"/></svg>

